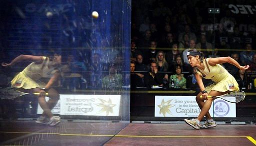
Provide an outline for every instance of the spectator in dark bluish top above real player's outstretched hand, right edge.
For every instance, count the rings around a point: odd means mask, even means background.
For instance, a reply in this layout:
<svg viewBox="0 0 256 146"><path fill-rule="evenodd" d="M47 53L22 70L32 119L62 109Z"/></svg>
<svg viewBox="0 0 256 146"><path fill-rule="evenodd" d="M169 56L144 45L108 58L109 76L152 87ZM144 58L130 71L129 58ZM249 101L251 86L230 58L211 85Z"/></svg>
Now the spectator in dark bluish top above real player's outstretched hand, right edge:
<svg viewBox="0 0 256 146"><path fill-rule="evenodd" d="M244 64L252 63L252 56L254 54L255 53L252 51L251 44L246 43L245 44L245 51L240 52L240 56L239 56L241 64L244 65Z"/></svg>

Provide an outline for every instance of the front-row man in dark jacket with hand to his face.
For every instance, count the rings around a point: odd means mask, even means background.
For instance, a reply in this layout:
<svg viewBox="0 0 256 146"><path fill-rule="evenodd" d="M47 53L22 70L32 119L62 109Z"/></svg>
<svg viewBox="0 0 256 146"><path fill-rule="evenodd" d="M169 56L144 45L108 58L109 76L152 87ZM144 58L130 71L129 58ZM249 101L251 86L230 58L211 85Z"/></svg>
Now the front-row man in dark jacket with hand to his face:
<svg viewBox="0 0 256 146"><path fill-rule="evenodd" d="M162 86L162 75L157 71L157 65L155 62L150 63L150 71L144 76L145 86L151 88L152 86Z"/></svg>

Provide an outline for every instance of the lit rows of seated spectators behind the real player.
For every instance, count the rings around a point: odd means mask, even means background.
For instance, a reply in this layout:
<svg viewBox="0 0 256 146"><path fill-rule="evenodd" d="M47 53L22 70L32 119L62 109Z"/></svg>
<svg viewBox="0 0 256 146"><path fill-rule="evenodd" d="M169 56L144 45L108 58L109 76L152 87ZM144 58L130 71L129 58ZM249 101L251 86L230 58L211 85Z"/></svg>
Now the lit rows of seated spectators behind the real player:
<svg viewBox="0 0 256 146"><path fill-rule="evenodd" d="M134 41L131 41L131 43L131 47L136 46ZM154 44L155 42L151 41L147 54L143 54L142 50L138 50L136 47L135 49L131 49L131 55L133 55L130 58L131 89L141 87L152 89L154 87L163 87L198 90L199 88L194 77L196 68L192 68L188 64L188 60L186 58L186 52L190 48L183 49L182 51L182 49L178 48L177 43L173 42L172 47L169 51L163 51L157 49ZM194 40L189 40L188 46L192 46L192 48L197 48L195 47ZM255 76L253 76L253 74L247 76L246 74L248 74L249 72L256 72L256 54L251 51L250 44L245 44L245 47L247 48L247 50L240 53L232 52L230 54L230 57L238 61L240 64L249 64L250 68L246 72L238 70L238 68L231 64L222 64L222 66L235 77L239 84L240 90L251 88L249 87L249 83L253 84L253 79L255 78ZM202 52L206 52L205 57L215 57L207 55L209 54L207 52L209 52L210 50L207 51L207 49L203 50L201 48L197 49L201 50ZM144 58L146 58L147 60L144 60ZM251 58L251 61L248 60L248 58ZM173 86L171 85L172 82L174 83ZM204 82L205 84L210 83L207 80L205 80Z"/></svg>

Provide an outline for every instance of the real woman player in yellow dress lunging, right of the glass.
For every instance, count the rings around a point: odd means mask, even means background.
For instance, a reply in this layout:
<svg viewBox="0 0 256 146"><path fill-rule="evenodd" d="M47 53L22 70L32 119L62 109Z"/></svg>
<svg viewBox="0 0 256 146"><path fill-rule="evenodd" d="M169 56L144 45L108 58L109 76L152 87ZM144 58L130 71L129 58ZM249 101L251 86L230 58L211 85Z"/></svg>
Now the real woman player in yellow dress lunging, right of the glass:
<svg viewBox="0 0 256 146"><path fill-rule="evenodd" d="M246 70L249 66L240 66L239 63L237 63L231 57L204 59L203 54L196 49L192 49L187 52L187 59L192 67L197 68L195 78L201 92L197 94L196 102L201 111L196 119L185 119L184 121L196 130L200 128L215 127L216 123L212 120L208 111L212 101L216 98L207 98L207 96L220 96L226 93L230 93L231 91L239 91L238 84L234 77L229 74L220 64L230 63L240 70ZM204 88L202 78L211 79L214 83ZM202 97L200 98L201 95ZM206 117L206 122L200 125L199 123L204 116Z"/></svg>

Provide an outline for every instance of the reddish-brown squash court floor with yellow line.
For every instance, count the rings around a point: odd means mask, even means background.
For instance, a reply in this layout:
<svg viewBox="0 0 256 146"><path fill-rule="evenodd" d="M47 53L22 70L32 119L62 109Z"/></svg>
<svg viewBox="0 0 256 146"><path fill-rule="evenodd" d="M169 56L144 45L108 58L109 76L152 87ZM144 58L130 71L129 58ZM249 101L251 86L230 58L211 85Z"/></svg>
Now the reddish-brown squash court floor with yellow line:
<svg viewBox="0 0 256 146"><path fill-rule="evenodd" d="M255 146L256 125L0 121L0 146Z"/></svg>

